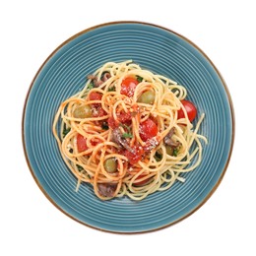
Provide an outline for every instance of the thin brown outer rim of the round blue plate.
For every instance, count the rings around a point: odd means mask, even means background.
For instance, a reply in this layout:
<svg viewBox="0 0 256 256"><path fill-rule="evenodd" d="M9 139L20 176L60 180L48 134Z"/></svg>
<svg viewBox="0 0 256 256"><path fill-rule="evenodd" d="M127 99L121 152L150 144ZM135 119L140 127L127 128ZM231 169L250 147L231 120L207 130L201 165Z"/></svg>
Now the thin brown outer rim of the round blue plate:
<svg viewBox="0 0 256 256"><path fill-rule="evenodd" d="M112 26L112 25L125 25L125 24L134 24L134 25L142 25L142 26L150 26L156 29L160 29L163 30L165 32L170 32L173 33L175 35L177 35L178 37L180 37L181 39L183 39L184 41L186 41L187 43L189 43L190 45L192 45L193 47L196 48L196 50L198 50L204 58L206 58L206 60L210 63L210 65L212 66L212 68L215 70L215 72L217 73L217 75L219 76L222 85L224 87L224 92L227 96L227 102L229 105L229 109L230 109L230 119L231 119L231 134L230 134L230 148L228 151L228 157L225 161L224 164L224 169L222 171L221 176L218 179L218 182L216 182L215 186L212 188L212 190L208 193L208 195L204 198L204 200L202 200L202 202L200 202L200 204L195 207L194 209L192 209L192 211L188 212L187 214L185 214L183 217L180 217L179 219L177 219L174 222L171 222L169 224L163 224L159 227L156 228L150 228L147 230L140 230L140 231L118 231L118 230L109 230L106 228L100 228L91 224L87 224L85 222L82 222L81 220L75 218L72 216L72 214L69 214L67 212L65 212L60 206L57 205L57 203L48 195L48 193L46 192L46 190L43 188L43 186L39 183L39 180L36 178L35 173L33 171L32 168L32 164L29 160L29 154L27 152L27 147L26 147L26 139L25 139L25 119L26 119L26 112L27 112L27 106L28 106L28 102L29 102L29 97L31 95L32 92L32 87L34 84L34 81L36 80L37 76L39 75L39 73L41 72L41 70L43 69L43 67L45 66L45 64L48 62L48 60L54 56L54 54L61 49L64 45L68 44L70 41L72 41L73 39L77 38L78 36L87 33L87 32L91 32L94 31L96 29L99 28L103 28L103 27L108 27L108 26ZM186 218L188 218L189 216L191 216L192 214L194 214L198 209L200 209L208 200L209 198L215 193L215 191L217 190L217 188L220 186L223 178L224 178L224 174L226 172L226 169L228 167L231 155L232 155L232 150L233 150L233 144L234 144L234 137L235 137L235 114L234 114L234 107L233 107L233 102L229 93L229 90L227 88L227 85L224 81L224 77L222 76L221 72L218 70L218 68L215 66L215 64L213 63L213 61L208 57L208 55L197 45L195 44L193 41L191 41L190 39L188 39L187 37L185 37L184 35L178 33L178 32L174 32L173 30L167 29L163 26L157 25L157 24L153 24L153 23L148 23L148 22L140 22L140 21L115 21L115 22L107 22L107 23L102 23L93 27L90 27L88 29L85 29L81 32L77 32L74 35L71 35L69 38L67 38L66 40L64 40L62 43L60 43L49 55L48 57L45 58L45 60L42 62L42 64L39 66L38 70L36 71L35 75L32 78L32 82L30 84L30 87L28 89L27 95L25 97L25 102L24 102L24 107L23 107L23 114L22 114L22 144L23 144L23 151L24 151L24 155L25 155L25 159L27 161L27 164L29 166L29 169L32 173L32 177L35 181L35 183L37 184L38 188L40 189L40 191L44 194L44 196L52 203L53 206L55 206L61 213L65 214L66 216L68 216L69 218L71 218L72 220L78 222L79 224L84 224L86 226L89 226L91 228L94 228L96 230L100 230L100 231L104 231L104 232L109 232L109 233L117 233L117 234L138 234L138 233L148 233L148 232L153 232L153 231L158 231L160 229L166 228L170 225L173 224L177 224L183 220L185 220Z"/></svg>

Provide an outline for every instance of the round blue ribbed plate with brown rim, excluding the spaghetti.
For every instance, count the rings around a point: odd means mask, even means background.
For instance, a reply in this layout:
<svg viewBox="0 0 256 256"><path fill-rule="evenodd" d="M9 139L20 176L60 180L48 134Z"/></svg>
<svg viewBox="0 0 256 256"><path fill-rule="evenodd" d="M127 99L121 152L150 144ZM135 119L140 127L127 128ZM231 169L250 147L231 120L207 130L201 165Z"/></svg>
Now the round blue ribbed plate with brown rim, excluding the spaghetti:
<svg viewBox="0 0 256 256"><path fill-rule="evenodd" d="M128 59L187 88L199 115L206 113L200 133L209 144L201 165L183 175L185 183L176 182L141 202L128 198L100 201L88 184L75 192L77 180L60 156L51 126L60 102L79 92L88 74L107 61ZM39 68L24 108L25 155L41 191L72 219L111 232L156 230L195 212L220 184L233 139L231 98L217 68L190 40L152 24L110 23L72 36Z"/></svg>

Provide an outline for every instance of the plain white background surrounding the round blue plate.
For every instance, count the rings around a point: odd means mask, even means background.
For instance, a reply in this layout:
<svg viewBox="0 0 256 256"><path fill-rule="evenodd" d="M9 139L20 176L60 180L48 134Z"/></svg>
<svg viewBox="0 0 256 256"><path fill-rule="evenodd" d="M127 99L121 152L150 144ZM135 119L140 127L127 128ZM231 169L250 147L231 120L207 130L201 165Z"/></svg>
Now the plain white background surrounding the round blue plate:
<svg viewBox="0 0 256 256"><path fill-rule="evenodd" d="M1 255L256 255L254 1L1 1ZM58 211L35 184L22 146L22 112L45 58L73 34L141 21L195 42L224 76L235 143L224 180L189 218L160 231L98 231ZM254 90L254 91L253 91Z"/></svg>

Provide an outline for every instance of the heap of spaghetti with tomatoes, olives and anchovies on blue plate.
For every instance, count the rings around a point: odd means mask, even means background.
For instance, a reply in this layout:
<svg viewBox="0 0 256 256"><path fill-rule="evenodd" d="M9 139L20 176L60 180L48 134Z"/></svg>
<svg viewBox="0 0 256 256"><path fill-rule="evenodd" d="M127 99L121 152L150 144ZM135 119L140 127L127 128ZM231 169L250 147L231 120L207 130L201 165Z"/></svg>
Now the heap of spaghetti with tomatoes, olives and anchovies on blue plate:
<svg viewBox="0 0 256 256"><path fill-rule="evenodd" d="M194 127L182 103L186 96L183 86L131 60L105 63L88 76L53 121L62 158L78 179L76 189L87 182L101 200L142 200L184 182L180 174L200 164L201 141L207 143L198 134L205 114Z"/></svg>

